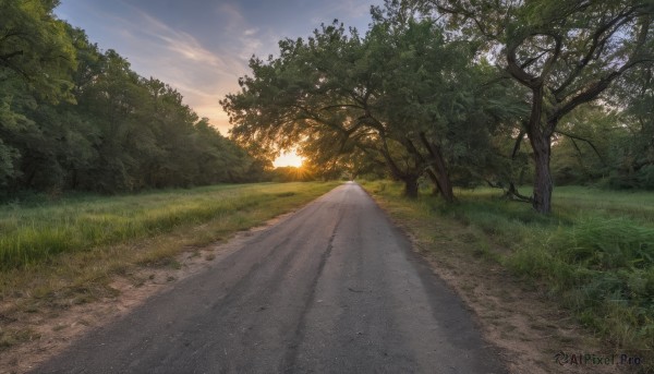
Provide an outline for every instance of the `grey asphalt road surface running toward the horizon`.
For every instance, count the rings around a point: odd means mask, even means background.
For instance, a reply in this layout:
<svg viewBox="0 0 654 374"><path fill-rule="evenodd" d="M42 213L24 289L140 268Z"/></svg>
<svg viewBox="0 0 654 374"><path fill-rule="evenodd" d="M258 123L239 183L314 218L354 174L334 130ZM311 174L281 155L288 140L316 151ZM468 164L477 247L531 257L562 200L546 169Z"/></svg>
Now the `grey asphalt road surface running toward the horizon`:
<svg viewBox="0 0 654 374"><path fill-rule="evenodd" d="M35 373L504 373L458 298L346 183Z"/></svg>

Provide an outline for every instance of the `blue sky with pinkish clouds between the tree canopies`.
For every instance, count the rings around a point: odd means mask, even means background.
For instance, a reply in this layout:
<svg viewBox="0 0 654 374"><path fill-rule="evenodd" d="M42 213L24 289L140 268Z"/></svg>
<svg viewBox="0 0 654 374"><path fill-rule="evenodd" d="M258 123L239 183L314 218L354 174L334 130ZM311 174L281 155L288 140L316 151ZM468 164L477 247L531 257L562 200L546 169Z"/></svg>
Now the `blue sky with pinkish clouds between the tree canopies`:
<svg viewBox="0 0 654 374"><path fill-rule="evenodd" d="M311 35L335 19L364 33L383 0L61 0L56 14L114 49L138 74L159 79L223 134L218 100L238 91L252 55L276 53L286 37Z"/></svg>

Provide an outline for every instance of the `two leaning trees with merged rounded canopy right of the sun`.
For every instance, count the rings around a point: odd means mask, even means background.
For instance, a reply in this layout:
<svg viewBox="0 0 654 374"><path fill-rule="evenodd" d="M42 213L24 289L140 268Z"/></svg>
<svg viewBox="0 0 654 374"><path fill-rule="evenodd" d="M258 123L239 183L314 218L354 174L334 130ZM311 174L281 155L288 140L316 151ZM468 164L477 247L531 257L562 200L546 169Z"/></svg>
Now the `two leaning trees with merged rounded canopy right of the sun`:
<svg viewBox="0 0 654 374"><path fill-rule="evenodd" d="M405 195L417 195L427 172L451 202L448 164L464 170L488 144L488 116L471 84L481 72L474 48L448 44L431 20L388 11L365 38L335 23L306 41L282 40L280 57L253 58L254 76L221 104L242 144L274 154L300 143L325 164L356 150L383 160Z"/></svg>

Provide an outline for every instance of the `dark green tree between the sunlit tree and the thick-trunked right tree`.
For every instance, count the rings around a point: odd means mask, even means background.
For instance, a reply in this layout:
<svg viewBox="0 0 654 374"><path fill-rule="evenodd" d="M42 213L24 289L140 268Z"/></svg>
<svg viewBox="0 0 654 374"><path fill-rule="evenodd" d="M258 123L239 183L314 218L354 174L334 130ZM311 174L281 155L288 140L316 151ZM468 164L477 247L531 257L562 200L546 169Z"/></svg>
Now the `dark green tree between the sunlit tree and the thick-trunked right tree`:
<svg viewBox="0 0 654 374"><path fill-rule="evenodd" d="M474 185L496 158L492 134L521 116L521 102L495 69L474 60L479 44L449 40L435 20L387 1L378 9L368 43L386 94L385 118L400 125L396 138L424 159L427 176L446 201L452 186Z"/></svg>

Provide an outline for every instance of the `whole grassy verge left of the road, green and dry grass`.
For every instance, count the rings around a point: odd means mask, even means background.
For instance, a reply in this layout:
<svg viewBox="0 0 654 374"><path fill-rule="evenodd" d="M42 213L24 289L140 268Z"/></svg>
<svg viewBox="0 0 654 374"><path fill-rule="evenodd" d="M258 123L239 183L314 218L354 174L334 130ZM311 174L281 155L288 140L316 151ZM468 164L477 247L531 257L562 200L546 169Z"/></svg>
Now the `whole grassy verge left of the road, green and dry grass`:
<svg viewBox="0 0 654 374"><path fill-rule="evenodd" d="M198 248L338 184L217 185L5 204L0 208L0 351L34 339L27 321L40 324L71 306L116 298L117 277L140 287L147 281L136 278L140 269L179 269L180 253L199 256Z"/></svg>

